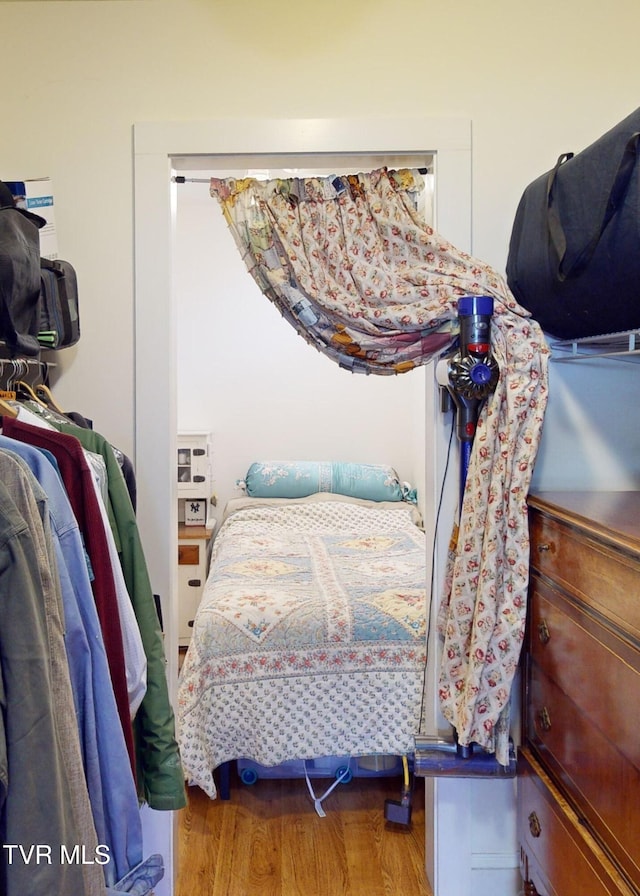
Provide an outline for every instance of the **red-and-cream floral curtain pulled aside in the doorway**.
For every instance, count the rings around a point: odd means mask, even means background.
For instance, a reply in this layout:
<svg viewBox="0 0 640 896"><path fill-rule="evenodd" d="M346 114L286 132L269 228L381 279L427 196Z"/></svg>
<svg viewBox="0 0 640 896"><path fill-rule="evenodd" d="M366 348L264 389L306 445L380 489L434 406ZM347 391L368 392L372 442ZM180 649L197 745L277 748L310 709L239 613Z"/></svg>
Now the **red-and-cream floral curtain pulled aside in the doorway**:
<svg viewBox="0 0 640 896"><path fill-rule="evenodd" d="M213 178L262 292L353 372L398 374L453 345L462 295L494 299L500 381L475 436L441 603L439 694L462 745L508 762L511 683L524 637L526 497L547 399L548 349L504 278L416 211L416 171L290 180Z"/></svg>

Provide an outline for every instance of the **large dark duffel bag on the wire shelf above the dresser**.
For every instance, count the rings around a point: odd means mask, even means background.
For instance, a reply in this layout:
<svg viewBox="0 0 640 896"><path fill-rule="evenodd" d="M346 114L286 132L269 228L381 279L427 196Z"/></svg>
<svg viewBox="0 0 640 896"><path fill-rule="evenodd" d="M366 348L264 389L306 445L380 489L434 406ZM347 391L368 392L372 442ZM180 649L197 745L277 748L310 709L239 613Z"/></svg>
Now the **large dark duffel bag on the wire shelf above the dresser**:
<svg viewBox="0 0 640 896"><path fill-rule="evenodd" d="M640 109L525 189L507 282L560 339L640 327Z"/></svg>

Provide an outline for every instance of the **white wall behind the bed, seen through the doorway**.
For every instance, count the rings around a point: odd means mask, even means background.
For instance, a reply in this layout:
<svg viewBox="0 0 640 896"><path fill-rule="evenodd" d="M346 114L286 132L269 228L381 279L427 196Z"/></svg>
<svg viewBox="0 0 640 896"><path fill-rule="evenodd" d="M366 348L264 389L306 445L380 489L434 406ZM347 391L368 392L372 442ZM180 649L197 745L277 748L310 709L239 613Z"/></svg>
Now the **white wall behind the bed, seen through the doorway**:
<svg viewBox="0 0 640 896"><path fill-rule="evenodd" d="M213 433L217 518L254 460L382 463L422 482L424 368L338 367L261 294L208 186L177 198L178 428Z"/></svg>

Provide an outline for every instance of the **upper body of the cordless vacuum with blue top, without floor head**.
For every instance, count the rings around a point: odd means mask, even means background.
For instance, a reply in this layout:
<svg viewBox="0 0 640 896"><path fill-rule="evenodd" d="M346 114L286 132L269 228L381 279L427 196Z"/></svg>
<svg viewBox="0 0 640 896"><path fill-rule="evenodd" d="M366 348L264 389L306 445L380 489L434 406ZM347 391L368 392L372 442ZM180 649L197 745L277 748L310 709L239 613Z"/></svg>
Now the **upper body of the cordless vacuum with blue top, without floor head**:
<svg viewBox="0 0 640 896"><path fill-rule="evenodd" d="M499 368L491 354L491 296L462 296L458 301L459 345L438 363L436 377L456 408L460 443L460 508L480 408L498 383Z"/></svg>

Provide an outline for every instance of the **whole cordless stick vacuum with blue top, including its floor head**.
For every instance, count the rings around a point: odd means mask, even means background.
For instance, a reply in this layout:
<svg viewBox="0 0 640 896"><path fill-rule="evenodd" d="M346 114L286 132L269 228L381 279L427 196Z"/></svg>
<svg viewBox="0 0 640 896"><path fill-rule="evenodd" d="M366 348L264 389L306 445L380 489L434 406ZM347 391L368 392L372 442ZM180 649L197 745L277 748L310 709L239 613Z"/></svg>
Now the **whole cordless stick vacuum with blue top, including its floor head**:
<svg viewBox="0 0 640 896"><path fill-rule="evenodd" d="M462 296L458 301L460 336L453 353L436 366L436 380L442 389L442 409L456 414L456 436L460 446L460 501L462 512L471 449L484 401L498 384L500 371L491 354L491 296ZM513 777L515 754L508 766L474 744L461 746L452 741L419 735L415 739L414 771L420 777Z"/></svg>

